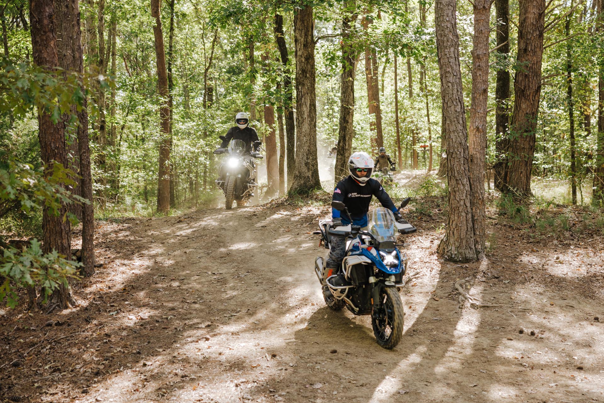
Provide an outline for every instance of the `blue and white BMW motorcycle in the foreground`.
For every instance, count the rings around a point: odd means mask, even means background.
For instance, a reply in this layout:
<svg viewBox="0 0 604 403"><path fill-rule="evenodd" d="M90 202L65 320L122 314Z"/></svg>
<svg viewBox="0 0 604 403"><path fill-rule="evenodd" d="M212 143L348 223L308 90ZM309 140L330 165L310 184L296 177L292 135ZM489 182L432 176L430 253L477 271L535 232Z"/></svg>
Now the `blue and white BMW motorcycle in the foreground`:
<svg viewBox="0 0 604 403"><path fill-rule="evenodd" d="M410 198L403 200L405 207ZM344 203L333 201L332 207L350 217ZM326 305L334 311L344 306L355 315L371 315L371 326L377 344L393 349L403 332L403 303L398 289L403 285L407 256L395 241L396 233L410 234L417 230L411 224L400 224L392 211L376 207L370 211L367 230L358 225L332 227L330 219L319 221L321 242L330 248L332 236L346 237L346 254L341 272L347 283L336 282L338 273L324 267L323 257L315 260L315 274L323 287ZM327 292L329 291L329 292Z"/></svg>

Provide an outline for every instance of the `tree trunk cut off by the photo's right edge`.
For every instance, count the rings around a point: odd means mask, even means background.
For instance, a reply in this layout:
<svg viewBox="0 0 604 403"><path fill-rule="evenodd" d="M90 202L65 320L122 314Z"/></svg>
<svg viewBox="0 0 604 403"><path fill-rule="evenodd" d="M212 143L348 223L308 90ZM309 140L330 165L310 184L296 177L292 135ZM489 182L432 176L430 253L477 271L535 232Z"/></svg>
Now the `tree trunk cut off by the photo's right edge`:
<svg viewBox="0 0 604 403"><path fill-rule="evenodd" d="M596 32L604 31L604 15L602 15L602 3L597 1ZM593 205L602 206L604 202L604 56L599 54L599 79L598 79L598 132L596 141L596 167L594 169L594 192L591 198Z"/></svg>

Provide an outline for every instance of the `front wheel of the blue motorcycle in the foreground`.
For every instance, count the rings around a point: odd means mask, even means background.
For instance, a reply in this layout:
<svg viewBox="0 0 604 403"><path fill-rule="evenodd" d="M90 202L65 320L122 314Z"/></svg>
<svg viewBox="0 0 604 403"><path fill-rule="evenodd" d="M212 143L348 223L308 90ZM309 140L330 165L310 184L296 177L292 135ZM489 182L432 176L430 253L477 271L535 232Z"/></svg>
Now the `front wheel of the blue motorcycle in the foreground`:
<svg viewBox="0 0 604 403"><path fill-rule="evenodd" d="M377 315L372 315L371 326L377 344L385 349L393 349L399 344L403 334L403 303L396 288L384 288L380 292L381 308Z"/></svg>

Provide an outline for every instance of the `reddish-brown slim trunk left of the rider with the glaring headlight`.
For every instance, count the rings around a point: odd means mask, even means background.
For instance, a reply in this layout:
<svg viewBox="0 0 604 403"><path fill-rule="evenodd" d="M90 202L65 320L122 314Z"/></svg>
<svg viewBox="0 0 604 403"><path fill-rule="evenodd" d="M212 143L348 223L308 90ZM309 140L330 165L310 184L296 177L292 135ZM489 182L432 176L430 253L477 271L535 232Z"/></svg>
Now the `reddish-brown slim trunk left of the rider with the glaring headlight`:
<svg viewBox="0 0 604 403"><path fill-rule="evenodd" d="M161 30L159 0L151 0L151 16L155 18L153 36L155 37L159 97L161 97L157 211L165 213L170 210L170 106L168 105L168 76L165 69L164 36Z"/></svg>

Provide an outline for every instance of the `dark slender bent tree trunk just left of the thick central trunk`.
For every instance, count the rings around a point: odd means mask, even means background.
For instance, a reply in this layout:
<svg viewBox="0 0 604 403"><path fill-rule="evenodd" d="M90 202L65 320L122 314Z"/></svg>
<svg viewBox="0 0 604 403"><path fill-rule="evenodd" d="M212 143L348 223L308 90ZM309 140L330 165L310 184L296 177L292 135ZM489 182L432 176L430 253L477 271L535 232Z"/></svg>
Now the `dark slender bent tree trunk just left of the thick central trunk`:
<svg viewBox="0 0 604 403"><path fill-rule="evenodd" d="M295 120L294 120L294 88L292 87L292 66L289 63L288 47L283 34L283 16L275 14L275 41L279 48L281 63L283 63L283 111L285 114L285 131L287 136L288 188L294 182L295 160Z"/></svg>

